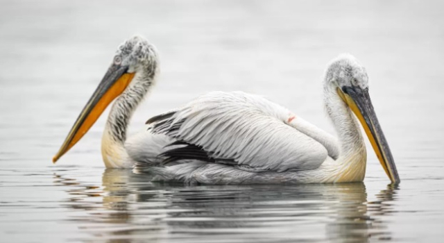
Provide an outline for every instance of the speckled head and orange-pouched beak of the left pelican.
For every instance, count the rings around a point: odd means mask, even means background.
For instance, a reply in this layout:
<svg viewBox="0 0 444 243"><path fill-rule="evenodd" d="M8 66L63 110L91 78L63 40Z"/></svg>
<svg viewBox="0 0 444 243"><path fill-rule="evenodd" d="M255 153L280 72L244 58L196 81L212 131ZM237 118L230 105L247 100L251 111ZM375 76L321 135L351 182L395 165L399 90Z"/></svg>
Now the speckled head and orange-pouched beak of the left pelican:
<svg viewBox="0 0 444 243"><path fill-rule="evenodd" d="M108 71L78 116L65 142L53 157L56 162L87 133L99 119L103 110L119 97L128 93L126 108L133 110L157 73L157 52L143 37L135 36L123 42L117 49ZM125 128L126 129L126 128Z"/></svg>

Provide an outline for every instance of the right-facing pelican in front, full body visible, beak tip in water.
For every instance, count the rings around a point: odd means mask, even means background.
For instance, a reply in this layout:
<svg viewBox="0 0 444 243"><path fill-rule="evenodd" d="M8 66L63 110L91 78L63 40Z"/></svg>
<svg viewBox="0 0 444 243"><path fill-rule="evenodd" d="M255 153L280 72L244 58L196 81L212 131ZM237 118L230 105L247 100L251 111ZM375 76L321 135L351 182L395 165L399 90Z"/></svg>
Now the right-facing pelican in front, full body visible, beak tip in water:
<svg viewBox="0 0 444 243"><path fill-rule="evenodd" d="M151 134L174 142L133 171L149 171L158 181L204 184L360 182L367 153L359 121L388 178L400 183L370 101L366 69L355 57L332 60L323 96L339 140L264 97L210 92L147 121Z"/></svg>

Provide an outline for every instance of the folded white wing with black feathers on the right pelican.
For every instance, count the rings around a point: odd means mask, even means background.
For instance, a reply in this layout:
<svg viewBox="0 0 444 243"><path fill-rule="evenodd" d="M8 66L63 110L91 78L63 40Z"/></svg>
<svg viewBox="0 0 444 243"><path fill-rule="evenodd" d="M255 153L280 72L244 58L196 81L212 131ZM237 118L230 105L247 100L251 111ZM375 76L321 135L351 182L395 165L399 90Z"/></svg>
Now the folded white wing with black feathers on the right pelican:
<svg viewBox="0 0 444 243"><path fill-rule="evenodd" d="M250 171L316 169L327 158L320 142L284 121L289 110L244 92L210 92L148 120L151 132L179 141L163 153Z"/></svg>

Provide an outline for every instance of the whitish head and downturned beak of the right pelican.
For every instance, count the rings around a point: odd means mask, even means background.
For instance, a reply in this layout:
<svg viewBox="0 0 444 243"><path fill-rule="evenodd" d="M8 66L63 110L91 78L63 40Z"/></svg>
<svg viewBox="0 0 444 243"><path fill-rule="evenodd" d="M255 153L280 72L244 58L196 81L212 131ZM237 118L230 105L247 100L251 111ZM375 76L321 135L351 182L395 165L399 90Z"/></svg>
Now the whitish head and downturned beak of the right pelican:
<svg viewBox="0 0 444 243"><path fill-rule="evenodd" d="M342 54L333 60L325 75L325 92L330 95L325 103L342 102L356 115L375 150L377 158L392 183L400 183L400 177L386 142L384 133L377 120L370 95L368 94L368 76L366 69L357 59L349 54ZM327 108L327 112L334 113Z"/></svg>

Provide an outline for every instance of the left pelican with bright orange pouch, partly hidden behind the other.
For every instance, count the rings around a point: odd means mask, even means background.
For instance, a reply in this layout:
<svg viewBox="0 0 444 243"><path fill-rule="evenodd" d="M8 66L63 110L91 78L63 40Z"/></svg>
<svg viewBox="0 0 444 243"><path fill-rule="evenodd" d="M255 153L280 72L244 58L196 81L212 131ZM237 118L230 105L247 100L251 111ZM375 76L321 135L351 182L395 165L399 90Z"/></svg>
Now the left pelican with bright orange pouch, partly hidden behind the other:
<svg viewBox="0 0 444 243"><path fill-rule="evenodd" d="M126 139L134 110L156 82L157 56L155 47L140 36L131 37L119 46L99 87L53 157L54 163L87 133L114 99L101 143L105 167L132 168L137 160L153 158L162 152L170 142L165 135L142 132Z"/></svg>

